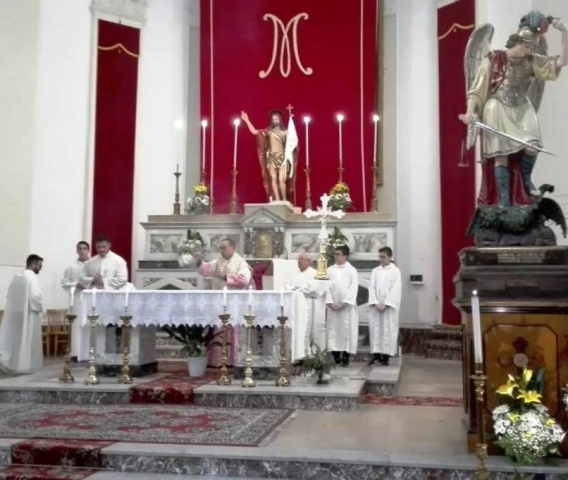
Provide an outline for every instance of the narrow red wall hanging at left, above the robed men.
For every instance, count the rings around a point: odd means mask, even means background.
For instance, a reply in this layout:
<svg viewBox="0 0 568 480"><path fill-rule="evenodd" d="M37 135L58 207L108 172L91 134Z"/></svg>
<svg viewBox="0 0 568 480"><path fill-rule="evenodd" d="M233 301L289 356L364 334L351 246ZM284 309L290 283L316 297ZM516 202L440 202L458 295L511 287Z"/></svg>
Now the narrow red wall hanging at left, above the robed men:
<svg viewBox="0 0 568 480"><path fill-rule="evenodd" d="M98 37L93 240L107 234L130 265L140 30L100 20Z"/></svg>

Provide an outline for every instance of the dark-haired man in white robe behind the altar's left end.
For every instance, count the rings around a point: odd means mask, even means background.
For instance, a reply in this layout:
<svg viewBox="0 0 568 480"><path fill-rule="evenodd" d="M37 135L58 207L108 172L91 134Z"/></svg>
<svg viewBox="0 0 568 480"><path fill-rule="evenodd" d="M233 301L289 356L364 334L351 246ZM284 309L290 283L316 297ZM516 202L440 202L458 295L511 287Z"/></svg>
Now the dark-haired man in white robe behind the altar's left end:
<svg viewBox="0 0 568 480"><path fill-rule="evenodd" d="M111 251L110 239L106 235L98 235L95 246L97 254L85 263L77 289L135 290L134 285L128 282L126 260ZM81 311L82 315L86 313ZM79 323L81 333L77 356L79 361L85 361L89 359L89 326L84 318Z"/></svg>

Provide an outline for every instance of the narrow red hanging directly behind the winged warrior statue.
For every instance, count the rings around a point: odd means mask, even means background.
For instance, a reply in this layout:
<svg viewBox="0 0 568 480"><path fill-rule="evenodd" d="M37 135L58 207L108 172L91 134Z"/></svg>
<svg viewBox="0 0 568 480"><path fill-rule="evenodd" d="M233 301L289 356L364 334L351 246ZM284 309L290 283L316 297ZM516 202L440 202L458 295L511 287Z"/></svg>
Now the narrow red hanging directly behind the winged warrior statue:
<svg viewBox="0 0 568 480"><path fill-rule="evenodd" d="M453 276L459 268L458 252L472 244L465 232L475 209L473 152L468 167L458 167L466 128L458 119L464 113L465 75L463 57L475 23L475 0L459 0L438 10L440 75L440 177L442 184L442 283L443 322L459 324L452 306ZM465 28L464 28L465 27Z"/></svg>

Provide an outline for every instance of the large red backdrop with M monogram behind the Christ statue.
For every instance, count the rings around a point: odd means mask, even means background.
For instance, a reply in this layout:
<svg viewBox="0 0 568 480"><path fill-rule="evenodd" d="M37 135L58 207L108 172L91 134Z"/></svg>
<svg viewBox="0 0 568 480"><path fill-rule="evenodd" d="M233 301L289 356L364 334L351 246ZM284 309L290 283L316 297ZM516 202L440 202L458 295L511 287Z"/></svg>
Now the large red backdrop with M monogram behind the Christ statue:
<svg viewBox="0 0 568 480"><path fill-rule="evenodd" d="M363 9L363 11L362 11ZM305 75L294 55L290 39L290 74L280 73L282 32L279 31L276 62L264 79L273 51L273 23L284 25L305 12L297 28L299 58L312 75ZM309 130L312 199L335 184L339 157L337 113L343 125L344 181L350 186L354 209L363 210L362 155L366 168L367 204L371 198L373 148L372 114L377 102L377 0L201 0L201 113L210 122L207 141L208 180L214 159L214 210L227 212L233 159L232 121L246 111L256 128L264 128L272 109L294 106L300 140L296 205L305 200L305 130L302 117L312 118ZM362 58L361 58L362 56ZM363 123L363 128L362 124ZM244 124L239 128L238 195L243 203L265 202L255 139ZM197 159L196 159L197 161ZM369 208L369 206L368 206Z"/></svg>

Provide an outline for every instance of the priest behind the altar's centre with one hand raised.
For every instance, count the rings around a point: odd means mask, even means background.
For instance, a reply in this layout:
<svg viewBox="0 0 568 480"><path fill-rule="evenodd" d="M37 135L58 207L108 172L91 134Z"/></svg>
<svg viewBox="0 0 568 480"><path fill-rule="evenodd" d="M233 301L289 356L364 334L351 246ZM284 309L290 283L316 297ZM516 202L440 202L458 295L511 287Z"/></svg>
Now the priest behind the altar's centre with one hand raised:
<svg viewBox="0 0 568 480"><path fill-rule="evenodd" d="M219 252L221 258L217 260L204 262L198 259L199 273L209 280L211 290L222 290L225 287L229 290L242 290L253 286L252 268L243 257L235 252L235 242L230 238L224 238L219 244ZM215 309L212 309L212 315L215 314ZM230 332L229 364L235 365L238 336L233 328ZM220 348L210 348L207 356L209 365L219 366L221 364Z"/></svg>

